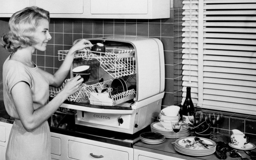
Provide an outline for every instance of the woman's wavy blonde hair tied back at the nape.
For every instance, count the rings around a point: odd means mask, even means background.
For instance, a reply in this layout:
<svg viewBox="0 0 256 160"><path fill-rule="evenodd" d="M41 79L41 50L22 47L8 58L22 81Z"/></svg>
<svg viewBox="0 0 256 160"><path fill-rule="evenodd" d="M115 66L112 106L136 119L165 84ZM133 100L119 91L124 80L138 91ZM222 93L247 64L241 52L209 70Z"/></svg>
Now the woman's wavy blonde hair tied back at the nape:
<svg viewBox="0 0 256 160"><path fill-rule="evenodd" d="M1 46L9 53L14 53L19 48L36 44L33 35L42 19L49 22L50 13L36 6L26 7L14 13L9 21L9 32L1 36Z"/></svg>

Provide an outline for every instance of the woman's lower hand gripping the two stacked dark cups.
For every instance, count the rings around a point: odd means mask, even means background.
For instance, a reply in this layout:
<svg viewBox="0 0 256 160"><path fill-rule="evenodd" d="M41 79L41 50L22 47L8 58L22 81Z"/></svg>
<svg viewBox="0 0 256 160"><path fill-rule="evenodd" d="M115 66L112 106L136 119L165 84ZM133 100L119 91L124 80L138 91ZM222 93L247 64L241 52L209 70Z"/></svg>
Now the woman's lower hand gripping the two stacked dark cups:
<svg viewBox="0 0 256 160"><path fill-rule="evenodd" d="M67 81L63 88L63 92L65 92L68 96L75 94L82 87L83 78L80 75L75 76Z"/></svg>

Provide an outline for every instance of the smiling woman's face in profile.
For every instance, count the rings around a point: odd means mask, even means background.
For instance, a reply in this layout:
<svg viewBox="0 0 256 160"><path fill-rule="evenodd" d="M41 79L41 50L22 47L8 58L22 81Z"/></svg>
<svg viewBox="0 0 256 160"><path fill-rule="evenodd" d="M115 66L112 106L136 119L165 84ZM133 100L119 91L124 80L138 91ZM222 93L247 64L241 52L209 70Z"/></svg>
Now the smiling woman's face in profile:
<svg viewBox="0 0 256 160"><path fill-rule="evenodd" d="M32 45L32 47L36 50L45 51L47 42L51 39L51 35L49 33L49 22L46 19L39 21L34 37L37 44Z"/></svg>

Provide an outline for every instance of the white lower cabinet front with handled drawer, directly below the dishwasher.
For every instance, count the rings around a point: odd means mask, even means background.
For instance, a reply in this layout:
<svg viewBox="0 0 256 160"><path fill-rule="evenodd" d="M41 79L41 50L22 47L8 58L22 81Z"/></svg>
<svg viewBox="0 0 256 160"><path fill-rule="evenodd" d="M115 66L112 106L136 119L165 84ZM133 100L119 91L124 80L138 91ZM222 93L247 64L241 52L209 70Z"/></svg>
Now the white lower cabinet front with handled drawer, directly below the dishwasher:
<svg viewBox="0 0 256 160"><path fill-rule="evenodd" d="M132 160L133 148L103 143L90 139L51 133L51 158L58 160L83 160L100 158L102 160ZM60 152L59 152L60 151Z"/></svg>

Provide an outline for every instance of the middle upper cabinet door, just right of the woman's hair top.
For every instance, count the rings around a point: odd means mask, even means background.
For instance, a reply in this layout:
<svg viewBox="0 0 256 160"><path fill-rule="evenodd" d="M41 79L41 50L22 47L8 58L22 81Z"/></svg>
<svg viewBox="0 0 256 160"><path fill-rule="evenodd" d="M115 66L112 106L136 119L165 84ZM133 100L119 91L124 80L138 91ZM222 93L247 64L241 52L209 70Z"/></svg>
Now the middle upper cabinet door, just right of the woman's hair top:
<svg viewBox="0 0 256 160"><path fill-rule="evenodd" d="M48 10L50 14L83 13L83 0L36 0L36 6Z"/></svg>

